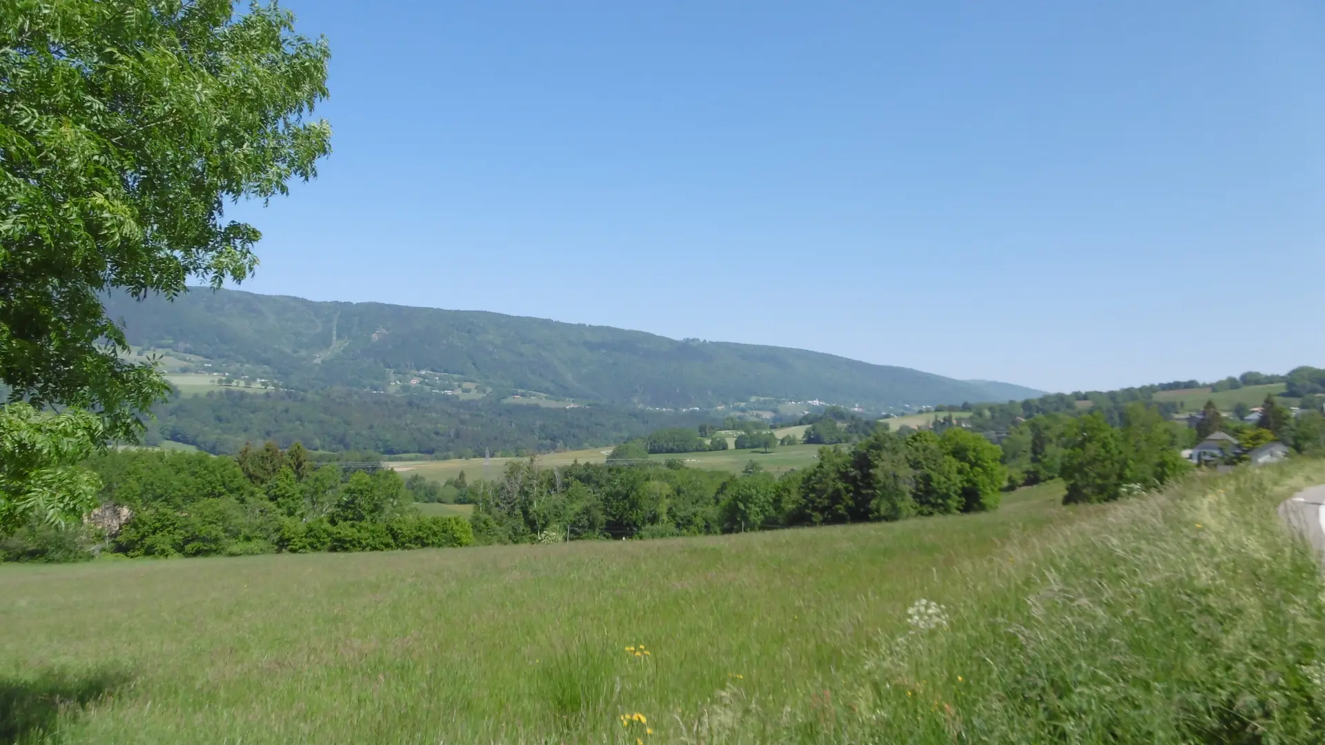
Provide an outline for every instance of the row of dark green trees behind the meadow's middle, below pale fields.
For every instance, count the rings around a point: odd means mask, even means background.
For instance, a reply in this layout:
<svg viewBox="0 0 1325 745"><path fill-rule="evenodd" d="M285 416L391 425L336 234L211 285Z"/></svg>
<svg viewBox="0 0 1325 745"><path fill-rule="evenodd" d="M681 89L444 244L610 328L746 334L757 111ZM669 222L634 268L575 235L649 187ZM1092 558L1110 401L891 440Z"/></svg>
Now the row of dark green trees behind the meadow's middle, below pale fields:
<svg viewBox="0 0 1325 745"><path fill-rule="evenodd" d="M729 476L627 455L613 452L606 465L507 464L500 480L466 489L476 502L476 536L498 542L693 536L982 512L998 506L1007 480L999 448L965 430L876 431L851 449L822 448L814 467L782 479L754 464Z"/></svg>

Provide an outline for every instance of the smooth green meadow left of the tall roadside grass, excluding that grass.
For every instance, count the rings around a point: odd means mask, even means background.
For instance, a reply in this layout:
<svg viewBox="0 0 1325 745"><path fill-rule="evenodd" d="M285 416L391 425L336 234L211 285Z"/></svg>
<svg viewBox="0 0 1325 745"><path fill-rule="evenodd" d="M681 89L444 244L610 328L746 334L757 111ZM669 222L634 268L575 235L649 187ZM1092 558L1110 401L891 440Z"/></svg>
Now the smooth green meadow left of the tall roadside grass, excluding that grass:
<svg viewBox="0 0 1325 745"><path fill-rule="evenodd" d="M729 683L796 699L916 598L957 602L958 567L1089 514L1060 494L734 537L0 566L0 742L615 742L624 712L666 741Z"/></svg>

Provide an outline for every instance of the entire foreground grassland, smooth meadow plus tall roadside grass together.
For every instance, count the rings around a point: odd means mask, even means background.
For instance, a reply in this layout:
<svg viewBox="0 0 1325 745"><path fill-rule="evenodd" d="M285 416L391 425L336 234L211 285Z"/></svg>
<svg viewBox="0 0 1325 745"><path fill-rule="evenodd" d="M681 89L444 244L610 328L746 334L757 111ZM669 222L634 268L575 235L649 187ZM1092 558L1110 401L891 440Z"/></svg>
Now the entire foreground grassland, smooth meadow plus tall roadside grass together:
<svg viewBox="0 0 1325 745"><path fill-rule="evenodd" d="M1317 741L1325 583L1273 508L1322 480L1298 461L884 525L4 566L0 741Z"/></svg>

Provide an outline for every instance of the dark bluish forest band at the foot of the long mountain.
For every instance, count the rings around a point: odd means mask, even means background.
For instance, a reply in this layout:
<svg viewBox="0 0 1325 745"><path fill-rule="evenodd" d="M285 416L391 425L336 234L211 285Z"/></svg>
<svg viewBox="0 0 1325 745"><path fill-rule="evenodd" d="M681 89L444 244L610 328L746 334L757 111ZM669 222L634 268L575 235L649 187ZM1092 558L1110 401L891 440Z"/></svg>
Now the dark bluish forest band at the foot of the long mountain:
<svg viewBox="0 0 1325 745"><path fill-rule="evenodd" d="M249 440L270 439L282 447L299 441L315 451L428 453L439 459L481 456L485 451L527 455L579 449L672 424L693 428L708 420L700 412L611 406L564 410L348 388L317 394L217 391L178 398L155 414L159 437L211 453L235 453Z"/></svg>

